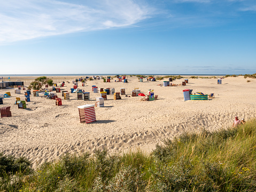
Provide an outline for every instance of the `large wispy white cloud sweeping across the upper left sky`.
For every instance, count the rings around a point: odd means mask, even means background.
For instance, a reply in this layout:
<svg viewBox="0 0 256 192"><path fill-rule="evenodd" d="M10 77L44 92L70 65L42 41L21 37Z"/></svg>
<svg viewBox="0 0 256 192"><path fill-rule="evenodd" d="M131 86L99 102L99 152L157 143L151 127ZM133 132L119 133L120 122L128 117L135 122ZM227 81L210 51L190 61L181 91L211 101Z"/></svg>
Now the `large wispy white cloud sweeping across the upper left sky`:
<svg viewBox="0 0 256 192"><path fill-rule="evenodd" d="M153 9L132 0L94 0L73 4L50 0L4 1L0 43L44 36L128 27L149 18Z"/></svg>

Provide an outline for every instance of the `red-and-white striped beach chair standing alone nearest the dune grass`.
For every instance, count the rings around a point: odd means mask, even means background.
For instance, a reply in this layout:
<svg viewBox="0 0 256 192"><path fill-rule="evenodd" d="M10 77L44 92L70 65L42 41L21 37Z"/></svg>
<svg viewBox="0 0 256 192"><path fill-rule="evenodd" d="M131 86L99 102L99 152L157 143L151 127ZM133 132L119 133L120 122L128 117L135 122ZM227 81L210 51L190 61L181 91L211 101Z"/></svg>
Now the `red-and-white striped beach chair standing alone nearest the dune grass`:
<svg viewBox="0 0 256 192"><path fill-rule="evenodd" d="M78 106L80 122L92 123L96 121L94 105Z"/></svg>

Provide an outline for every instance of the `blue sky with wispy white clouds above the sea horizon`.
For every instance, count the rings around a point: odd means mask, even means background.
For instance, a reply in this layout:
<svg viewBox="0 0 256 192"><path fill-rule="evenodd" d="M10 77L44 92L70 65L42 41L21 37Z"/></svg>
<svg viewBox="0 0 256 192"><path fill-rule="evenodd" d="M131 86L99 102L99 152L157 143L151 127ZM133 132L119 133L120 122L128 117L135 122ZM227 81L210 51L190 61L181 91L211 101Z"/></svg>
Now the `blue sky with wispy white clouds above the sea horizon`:
<svg viewBox="0 0 256 192"><path fill-rule="evenodd" d="M256 73L256 0L0 5L0 74Z"/></svg>

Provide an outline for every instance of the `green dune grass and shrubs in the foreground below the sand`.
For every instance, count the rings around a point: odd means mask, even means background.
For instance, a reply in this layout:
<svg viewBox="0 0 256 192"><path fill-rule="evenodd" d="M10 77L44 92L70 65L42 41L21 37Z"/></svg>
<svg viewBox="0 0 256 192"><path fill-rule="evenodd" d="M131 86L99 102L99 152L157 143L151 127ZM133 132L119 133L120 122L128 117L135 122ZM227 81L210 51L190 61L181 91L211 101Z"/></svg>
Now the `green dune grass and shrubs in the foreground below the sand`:
<svg viewBox="0 0 256 192"><path fill-rule="evenodd" d="M0 155L0 191L256 191L256 119L227 130L183 133L141 150L65 154L30 168Z"/></svg>

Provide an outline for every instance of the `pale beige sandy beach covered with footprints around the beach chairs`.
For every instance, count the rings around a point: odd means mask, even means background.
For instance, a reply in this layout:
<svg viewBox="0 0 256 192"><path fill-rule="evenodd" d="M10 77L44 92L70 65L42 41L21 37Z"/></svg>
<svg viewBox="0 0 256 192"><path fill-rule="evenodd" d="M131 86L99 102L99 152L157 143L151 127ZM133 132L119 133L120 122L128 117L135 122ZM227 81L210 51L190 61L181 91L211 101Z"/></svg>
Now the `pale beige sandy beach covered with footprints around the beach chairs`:
<svg viewBox="0 0 256 192"><path fill-rule="evenodd" d="M61 82L63 77L53 79ZM114 82L115 79L111 83L87 81L84 87L79 82L80 89L90 92L90 101L77 100L76 93L71 94L71 100L64 100L61 93L57 93L63 99L63 106L56 106L55 100L31 95L27 109L18 109L14 105L15 97L25 100L24 91L15 94L14 89L0 90L0 94L11 92L11 98L4 98L4 105L0 107L11 106L12 111L12 117L0 119L0 151L16 157L26 156L34 167L44 161L56 161L66 152L93 153L96 149L104 148L115 152L139 147L145 153L150 153L157 143L183 132L196 132L203 128L218 130L231 126L235 116L245 118L245 121L255 117L255 79L228 77L222 79L219 85L214 78L189 78L186 86L177 87L159 86L167 79L157 82L145 82L144 79L143 83L138 82L137 77L129 76L128 83ZM60 87L61 91L69 91L73 87L73 77L66 76L65 80L71 83ZM184 78L173 83L180 84L182 81ZM121 95L121 100L114 100L113 95L107 95L105 107L95 108L97 122L80 123L77 106L94 105L95 98L100 97L100 93L91 91L92 85L104 89L113 87L116 92L123 87L130 97ZM141 101L141 97L131 97L135 87L145 94L149 89L154 90L158 100ZM192 89L192 93L214 93L215 98L184 101L184 89Z"/></svg>

